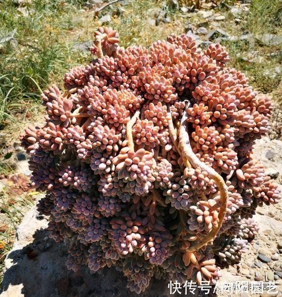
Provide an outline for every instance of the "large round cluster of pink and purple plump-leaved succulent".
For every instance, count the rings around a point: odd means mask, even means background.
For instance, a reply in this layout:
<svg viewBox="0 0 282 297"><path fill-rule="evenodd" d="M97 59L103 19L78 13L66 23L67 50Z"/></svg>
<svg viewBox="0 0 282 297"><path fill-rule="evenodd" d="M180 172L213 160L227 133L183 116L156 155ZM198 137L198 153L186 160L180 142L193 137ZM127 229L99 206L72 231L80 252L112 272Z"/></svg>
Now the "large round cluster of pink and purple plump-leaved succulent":
<svg viewBox="0 0 282 297"><path fill-rule="evenodd" d="M141 293L150 280L214 282L240 261L258 206L277 184L252 157L268 131L271 102L226 67L219 44L185 34L149 49L95 32L86 66L42 94L46 122L21 135L50 236L67 266L115 266Z"/></svg>

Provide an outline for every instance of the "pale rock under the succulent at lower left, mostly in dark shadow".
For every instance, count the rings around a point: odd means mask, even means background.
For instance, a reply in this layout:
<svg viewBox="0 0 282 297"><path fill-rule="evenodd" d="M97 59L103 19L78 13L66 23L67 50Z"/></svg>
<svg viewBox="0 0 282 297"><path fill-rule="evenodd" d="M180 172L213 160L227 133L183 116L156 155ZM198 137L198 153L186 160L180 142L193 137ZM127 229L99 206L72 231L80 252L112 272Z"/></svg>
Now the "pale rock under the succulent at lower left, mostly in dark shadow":
<svg viewBox="0 0 282 297"><path fill-rule="evenodd" d="M66 268L67 247L48 237L48 221L29 211L16 234L12 251L5 259L1 297L166 297L215 296L198 289L189 293L170 295L168 281L155 280L145 293L136 295L126 288L126 278L115 268L104 268L90 274L86 267L80 272ZM212 290L211 290L212 291Z"/></svg>

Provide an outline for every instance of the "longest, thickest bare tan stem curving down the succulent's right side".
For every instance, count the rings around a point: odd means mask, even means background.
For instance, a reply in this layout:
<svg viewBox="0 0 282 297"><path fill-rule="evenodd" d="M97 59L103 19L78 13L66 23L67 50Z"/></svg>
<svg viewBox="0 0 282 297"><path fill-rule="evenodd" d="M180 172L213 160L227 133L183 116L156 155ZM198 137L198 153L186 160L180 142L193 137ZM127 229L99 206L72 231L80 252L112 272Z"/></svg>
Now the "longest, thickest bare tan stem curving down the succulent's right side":
<svg viewBox="0 0 282 297"><path fill-rule="evenodd" d="M180 127L179 127L179 153L183 159L183 162L189 161L194 168L200 167L201 169L205 170L208 172L210 177L215 181L219 192L220 192L220 210L218 214L219 222L218 226L212 228L212 231L208 233L205 237L202 239L196 240L193 245L190 247L187 247L187 251L195 251L206 245L209 241L211 241L216 234L218 233L219 229L222 226L226 211L227 211L227 203L228 203L228 188L227 185L225 184L225 181L223 178L212 168L201 162L197 156L194 154L191 145L190 145L190 140L189 140L189 135L188 135L188 123L187 123L187 108L189 105L186 107L183 116L181 118L180 122ZM185 161L184 161L185 160Z"/></svg>

